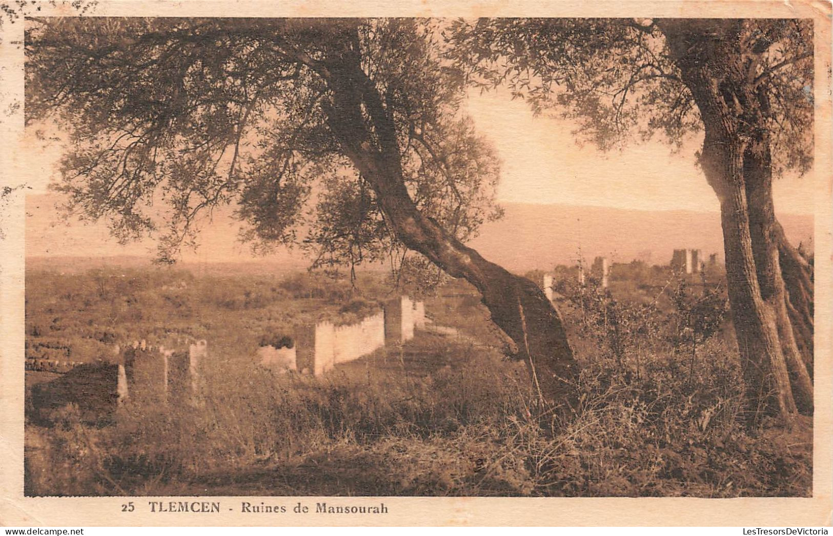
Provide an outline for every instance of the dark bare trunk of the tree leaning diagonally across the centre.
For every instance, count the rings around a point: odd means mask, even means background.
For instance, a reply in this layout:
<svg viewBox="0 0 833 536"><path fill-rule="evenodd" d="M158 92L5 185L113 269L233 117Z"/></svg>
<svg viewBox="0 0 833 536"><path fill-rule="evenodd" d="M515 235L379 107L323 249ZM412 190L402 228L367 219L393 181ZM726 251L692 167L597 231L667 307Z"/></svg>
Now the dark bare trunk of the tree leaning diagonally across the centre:
<svg viewBox="0 0 833 536"><path fill-rule="evenodd" d="M327 77L333 95L324 107L328 125L376 192L397 238L481 292L491 319L517 345L541 403L568 414L576 400L577 371L558 312L531 280L486 261L417 210L403 180L393 119L357 55L345 52Z"/></svg>

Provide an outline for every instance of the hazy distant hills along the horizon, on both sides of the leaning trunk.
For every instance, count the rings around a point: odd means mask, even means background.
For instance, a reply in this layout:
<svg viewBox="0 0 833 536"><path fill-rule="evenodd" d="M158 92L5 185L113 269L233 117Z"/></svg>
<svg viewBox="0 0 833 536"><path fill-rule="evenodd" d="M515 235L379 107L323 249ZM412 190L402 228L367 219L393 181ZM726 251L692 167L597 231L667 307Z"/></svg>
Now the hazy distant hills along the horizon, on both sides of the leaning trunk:
<svg viewBox="0 0 833 536"><path fill-rule="evenodd" d="M30 267L77 270L81 266L140 266L150 263L152 241L120 246L102 224L82 225L58 221L54 194L27 197L27 260ZM604 255L614 262L640 259L664 265L671 251L699 248L704 255L723 257L720 214L695 211L630 211L597 206L504 203L501 221L484 224L471 246L490 261L519 273ZM787 236L798 244L811 241L812 216L779 215ZM181 267L191 270L233 270L241 263L247 271L302 270L309 260L296 250L271 256L252 256L237 241L239 223L230 211L217 211L205 226L197 252L185 251ZM72 268L70 266L72 265ZM203 268L200 268L202 266Z"/></svg>

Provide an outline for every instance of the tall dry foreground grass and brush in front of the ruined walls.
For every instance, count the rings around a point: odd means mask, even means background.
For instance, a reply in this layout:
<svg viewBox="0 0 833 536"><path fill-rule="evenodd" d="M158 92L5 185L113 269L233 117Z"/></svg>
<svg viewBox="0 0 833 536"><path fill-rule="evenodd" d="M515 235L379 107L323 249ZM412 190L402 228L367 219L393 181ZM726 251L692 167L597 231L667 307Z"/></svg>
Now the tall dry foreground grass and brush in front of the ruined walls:
<svg viewBox="0 0 833 536"><path fill-rule="evenodd" d="M458 290L428 309L460 338L420 334L312 378L260 368L241 351L254 335L238 330L212 345L194 403L137 389L100 428L57 409L51 427L27 424L26 493L811 494L811 425L748 426L731 337L701 339L692 366L675 335L685 325L669 327L671 300L646 309L641 296L617 296L618 318L636 330L620 326L619 340L610 317L561 303L580 404L550 434L523 365L497 350L486 311ZM366 306L341 303L348 315ZM640 315L663 329L640 332Z"/></svg>

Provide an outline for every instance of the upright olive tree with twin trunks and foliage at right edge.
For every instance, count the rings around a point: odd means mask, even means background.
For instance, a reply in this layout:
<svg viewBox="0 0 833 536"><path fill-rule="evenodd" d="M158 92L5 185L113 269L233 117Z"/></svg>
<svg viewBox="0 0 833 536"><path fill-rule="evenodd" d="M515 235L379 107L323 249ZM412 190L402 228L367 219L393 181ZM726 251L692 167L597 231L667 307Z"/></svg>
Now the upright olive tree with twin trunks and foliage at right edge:
<svg viewBox="0 0 833 536"><path fill-rule="evenodd" d="M813 269L777 221L772 180L812 164L812 21L480 19L446 37L472 83L561 112L601 148L702 132L747 399L759 415L811 413Z"/></svg>

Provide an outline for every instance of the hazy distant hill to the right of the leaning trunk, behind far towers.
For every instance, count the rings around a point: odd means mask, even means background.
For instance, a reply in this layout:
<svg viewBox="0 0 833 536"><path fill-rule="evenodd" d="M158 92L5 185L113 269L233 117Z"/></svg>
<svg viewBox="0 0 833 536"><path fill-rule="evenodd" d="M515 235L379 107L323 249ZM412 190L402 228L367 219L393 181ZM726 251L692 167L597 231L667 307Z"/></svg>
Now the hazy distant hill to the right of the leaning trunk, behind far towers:
<svg viewBox="0 0 833 536"><path fill-rule="evenodd" d="M501 221L486 223L471 246L486 259L516 272L573 264L581 250L587 261L608 256L664 265L671 252L699 248L723 258L717 212L629 211L598 206L506 203ZM779 215L796 245L811 241L812 216ZM707 258L707 257L706 257Z"/></svg>

